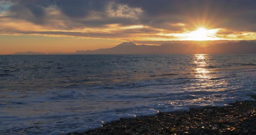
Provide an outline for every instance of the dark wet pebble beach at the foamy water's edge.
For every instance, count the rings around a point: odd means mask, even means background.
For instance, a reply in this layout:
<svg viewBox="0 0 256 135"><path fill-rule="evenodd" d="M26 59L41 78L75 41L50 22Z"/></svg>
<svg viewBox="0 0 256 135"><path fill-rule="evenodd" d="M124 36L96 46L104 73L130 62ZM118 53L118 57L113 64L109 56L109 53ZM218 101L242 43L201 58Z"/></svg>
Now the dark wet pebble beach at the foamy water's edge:
<svg viewBox="0 0 256 135"><path fill-rule="evenodd" d="M255 135L256 100L230 105L120 119L82 134L67 135Z"/></svg>

